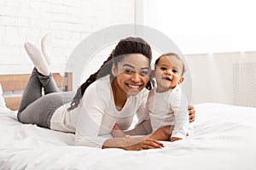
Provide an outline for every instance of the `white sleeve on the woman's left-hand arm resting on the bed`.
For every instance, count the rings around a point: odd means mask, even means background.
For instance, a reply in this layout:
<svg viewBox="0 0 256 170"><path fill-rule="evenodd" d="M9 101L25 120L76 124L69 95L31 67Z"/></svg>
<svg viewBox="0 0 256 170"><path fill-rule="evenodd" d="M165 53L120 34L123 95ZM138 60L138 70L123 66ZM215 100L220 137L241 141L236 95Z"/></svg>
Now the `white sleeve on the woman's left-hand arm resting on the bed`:
<svg viewBox="0 0 256 170"><path fill-rule="evenodd" d="M99 92L96 92L96 87L90 85L80 101L81 110L75 132L76 145L102 148L102 144L106 140L106 138L99 137L102 117L105 114L103 108L106 108L106 99L104 100L104 94L97 94Z"/></svg>

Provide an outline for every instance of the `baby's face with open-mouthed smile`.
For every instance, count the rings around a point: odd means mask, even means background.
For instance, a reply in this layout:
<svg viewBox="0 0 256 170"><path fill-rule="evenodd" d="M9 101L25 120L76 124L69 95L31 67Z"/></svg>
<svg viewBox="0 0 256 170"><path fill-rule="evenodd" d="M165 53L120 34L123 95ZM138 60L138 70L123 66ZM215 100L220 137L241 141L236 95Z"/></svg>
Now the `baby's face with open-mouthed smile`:
<svg viewBox="0 0 256 170"><path fill-rule="evenodd" d="M182 75L182 60L177 59L175 55L162 56L154 71L158 91L165 92L175 88L177 84L183 82Z"/></svg>

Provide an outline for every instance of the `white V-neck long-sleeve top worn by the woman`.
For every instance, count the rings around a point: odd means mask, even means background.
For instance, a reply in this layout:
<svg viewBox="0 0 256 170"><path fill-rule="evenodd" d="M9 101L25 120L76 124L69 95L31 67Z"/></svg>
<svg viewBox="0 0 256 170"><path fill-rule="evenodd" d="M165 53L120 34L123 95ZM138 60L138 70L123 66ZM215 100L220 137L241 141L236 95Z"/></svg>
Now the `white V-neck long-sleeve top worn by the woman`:
<svg viewBox="0 0 256 170"><path fill-rule="evenodd" d="M79 106L67 111L70 103L58 108L50 121L50 128L75 133L75 144L102 148L115 123L123 130L131 126L133 116L143 111L148 90L130 96L121 111L114 105L110 77L102 77L86 88Z"/></svg>

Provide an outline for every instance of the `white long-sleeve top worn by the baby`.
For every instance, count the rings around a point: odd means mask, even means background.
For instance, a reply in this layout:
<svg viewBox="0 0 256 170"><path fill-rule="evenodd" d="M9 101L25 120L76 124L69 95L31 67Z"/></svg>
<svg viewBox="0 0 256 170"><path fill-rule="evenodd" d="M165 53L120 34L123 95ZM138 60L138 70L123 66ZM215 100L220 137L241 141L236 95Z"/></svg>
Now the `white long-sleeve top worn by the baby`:
<svg viewBox="0 0 256 170"><path fill-rule="evenodd" d="M164 93L152 89L146 106L153 131L173 125L172 137L185 138L189 129L188 101L179 85Z"/></svg>

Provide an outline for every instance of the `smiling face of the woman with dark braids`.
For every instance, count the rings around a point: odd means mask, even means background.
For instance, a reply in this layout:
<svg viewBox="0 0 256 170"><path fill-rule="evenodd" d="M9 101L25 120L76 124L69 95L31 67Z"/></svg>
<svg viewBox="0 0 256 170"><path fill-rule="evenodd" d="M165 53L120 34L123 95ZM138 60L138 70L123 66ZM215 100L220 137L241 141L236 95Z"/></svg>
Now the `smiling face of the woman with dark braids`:
<svg viewBox="0 0 256 170"><path fill-rule="evenodd" d="M113 65L113 76L119 88L127 95L137 95L148 83L150 66L148 58L143 54L127 54Z"/></svg>

